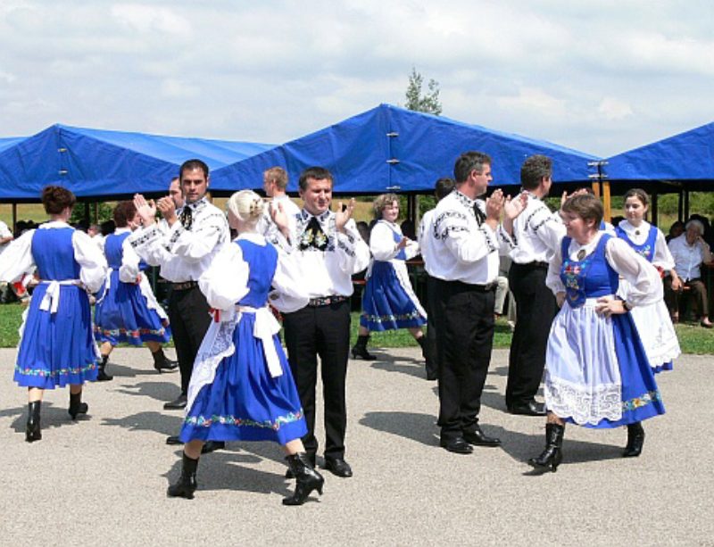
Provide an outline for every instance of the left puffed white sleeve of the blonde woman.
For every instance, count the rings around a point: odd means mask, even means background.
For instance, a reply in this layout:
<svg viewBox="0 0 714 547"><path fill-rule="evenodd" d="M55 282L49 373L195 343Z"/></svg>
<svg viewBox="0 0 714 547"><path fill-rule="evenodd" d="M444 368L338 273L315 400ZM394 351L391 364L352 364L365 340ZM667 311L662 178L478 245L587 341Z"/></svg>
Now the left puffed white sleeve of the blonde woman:
<svg viewBox="0 0 714 547"><path fill-rule="evenodd" d="M237 244L224 245L198 278L198 287L216 310L232 310L248 293L248 263Z"/></svg>

